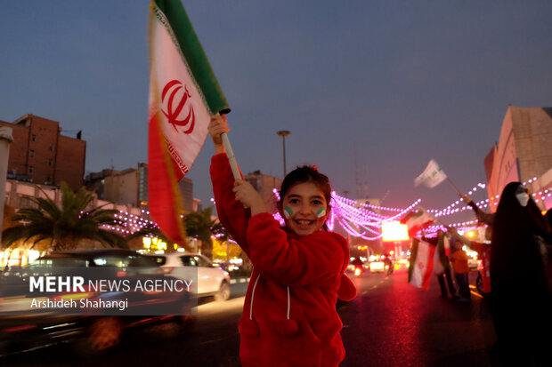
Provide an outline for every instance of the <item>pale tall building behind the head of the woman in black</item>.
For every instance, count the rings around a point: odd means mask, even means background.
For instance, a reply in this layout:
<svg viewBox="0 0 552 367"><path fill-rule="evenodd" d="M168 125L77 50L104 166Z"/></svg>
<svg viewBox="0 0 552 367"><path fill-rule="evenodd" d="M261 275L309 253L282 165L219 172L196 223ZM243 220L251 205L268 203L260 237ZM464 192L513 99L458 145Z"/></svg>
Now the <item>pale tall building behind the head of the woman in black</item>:
<svg viewBox="0 0 552 367"><path fill-rule="evenodd" d="M540 193L533 198L542 210L552 206L545 192L552 187L551 147L552 108L507 108L499 142L484 160L491 211L512 181L526 182L532 193Z"/></svg>

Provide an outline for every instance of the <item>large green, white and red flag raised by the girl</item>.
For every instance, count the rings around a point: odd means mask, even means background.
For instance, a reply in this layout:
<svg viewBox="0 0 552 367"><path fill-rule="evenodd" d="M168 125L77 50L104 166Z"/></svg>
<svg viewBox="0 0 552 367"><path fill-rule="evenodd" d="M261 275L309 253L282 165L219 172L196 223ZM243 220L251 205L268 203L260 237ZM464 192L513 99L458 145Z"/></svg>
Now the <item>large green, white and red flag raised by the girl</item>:
<svg viewBox="0 0 552 367"><path fill-rule="evenodd" d="M210 116L228 113L180 0L155 0L150 13L149 205L161 231L183 246L178 182L207 139Z"/></svg>

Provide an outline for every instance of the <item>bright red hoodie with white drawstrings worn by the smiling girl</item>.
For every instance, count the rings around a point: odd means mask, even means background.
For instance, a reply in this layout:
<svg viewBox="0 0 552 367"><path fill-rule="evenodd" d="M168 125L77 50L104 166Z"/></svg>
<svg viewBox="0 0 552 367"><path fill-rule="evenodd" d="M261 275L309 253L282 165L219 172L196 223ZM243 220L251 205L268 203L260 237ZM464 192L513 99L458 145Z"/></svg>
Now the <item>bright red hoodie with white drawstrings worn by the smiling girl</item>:
<svg viewBox="0 0 552 367"><path fill-rule="evenodd" d="M345 357L337 297L356 289L345 275L345 238L318 231L300 237L270 213L251 217L235 200L230 164L213 156L211 180L223 226L254 266L239 321L243 366L337 366Z"/></svg>

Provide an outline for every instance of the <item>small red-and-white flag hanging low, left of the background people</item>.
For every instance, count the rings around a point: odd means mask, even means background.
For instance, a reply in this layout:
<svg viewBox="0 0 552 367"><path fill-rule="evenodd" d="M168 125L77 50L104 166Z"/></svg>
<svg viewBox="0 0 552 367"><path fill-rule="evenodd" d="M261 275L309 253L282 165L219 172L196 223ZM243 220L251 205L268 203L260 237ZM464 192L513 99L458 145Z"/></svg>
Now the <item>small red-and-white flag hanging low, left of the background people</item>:
<svg viewBox="0 0 552 367"><path fill-rule="evenodd" d="M409 267L410 284L426 291L429 289L429 281L434 271L434 252L435 246L418 238L412 239Z"/></svg>

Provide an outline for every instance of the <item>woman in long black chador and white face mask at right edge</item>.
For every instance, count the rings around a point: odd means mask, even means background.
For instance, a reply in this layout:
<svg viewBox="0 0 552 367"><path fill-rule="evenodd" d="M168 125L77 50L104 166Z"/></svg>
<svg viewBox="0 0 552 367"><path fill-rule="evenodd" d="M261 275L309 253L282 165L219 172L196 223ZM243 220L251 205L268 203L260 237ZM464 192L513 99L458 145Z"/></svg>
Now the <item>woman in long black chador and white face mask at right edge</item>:
<svg viewBox="0 0 552 367"><path fill-rule="evenodd" d="M552 240L545 218L526 187L502 191L491 242L491 315L497 349L524 358L541 354L550 333L550 293L541 239Z"/></svg>

